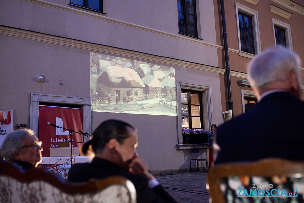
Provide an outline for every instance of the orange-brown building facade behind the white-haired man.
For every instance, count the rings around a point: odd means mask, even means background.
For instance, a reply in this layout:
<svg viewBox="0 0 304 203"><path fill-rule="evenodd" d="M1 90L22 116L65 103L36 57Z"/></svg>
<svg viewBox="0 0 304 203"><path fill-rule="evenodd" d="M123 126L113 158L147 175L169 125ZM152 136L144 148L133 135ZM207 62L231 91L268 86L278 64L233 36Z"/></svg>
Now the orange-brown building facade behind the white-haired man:
<svg viewBox="0 0 304 203"><path fill-rule="evenodd" d="M234 116L246 111L247 103L256 102L256 97L247 79L247 63L268 47L280 44L299 54L304 60L304 2L280 0L225 1L227 43L231 74L231 90ZM217 1L220 5L220 1ZM216 6L215 6L216 7ZM220 10L216 11L217 44L223 44ZM219 66L225 67L224 53L219 57ZM303 63L302 63L303 67ZM303 84L303 68L301 68ZM226 85L226 75L221 75L221 87ZM303 89L303 85L302 85ZM222 89L223 90L223 89ZM222 91L222 110L228 109L227 90ZM302 99L303 99L302 94ZM250 106L250 105L249 105ZM249 107L250 108L250 107Z"/></svg>

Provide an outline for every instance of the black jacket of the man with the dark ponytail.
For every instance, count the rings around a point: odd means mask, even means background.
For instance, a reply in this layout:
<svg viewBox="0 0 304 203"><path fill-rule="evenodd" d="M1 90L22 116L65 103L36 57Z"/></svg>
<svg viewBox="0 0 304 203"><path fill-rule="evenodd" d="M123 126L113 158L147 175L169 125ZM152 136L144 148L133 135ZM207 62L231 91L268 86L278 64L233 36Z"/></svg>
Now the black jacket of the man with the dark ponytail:
<svg viewBox="0 0 304 203"><path fill-rule="evenodd" d="M136 189L137 202L175 202L161 185L150 189L148 179L122 170L116 164L105 159L94 158L91 163L74 165L69 171L68 180L84 182L92 178L102 179L113 175L121 175L130 180Z"/></svg>

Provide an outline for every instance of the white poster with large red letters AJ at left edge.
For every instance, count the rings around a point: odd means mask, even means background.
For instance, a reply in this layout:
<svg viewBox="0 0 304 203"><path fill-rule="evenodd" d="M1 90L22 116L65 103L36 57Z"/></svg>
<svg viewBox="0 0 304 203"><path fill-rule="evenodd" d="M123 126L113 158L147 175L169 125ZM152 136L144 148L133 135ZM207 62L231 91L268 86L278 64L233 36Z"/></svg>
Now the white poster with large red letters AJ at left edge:
<svg viewBox="0 0 304 203"><path fill-rule="evenodd" d="M13 115L14 109L0 110L0 149L6 135L14 130Z"/></svg>

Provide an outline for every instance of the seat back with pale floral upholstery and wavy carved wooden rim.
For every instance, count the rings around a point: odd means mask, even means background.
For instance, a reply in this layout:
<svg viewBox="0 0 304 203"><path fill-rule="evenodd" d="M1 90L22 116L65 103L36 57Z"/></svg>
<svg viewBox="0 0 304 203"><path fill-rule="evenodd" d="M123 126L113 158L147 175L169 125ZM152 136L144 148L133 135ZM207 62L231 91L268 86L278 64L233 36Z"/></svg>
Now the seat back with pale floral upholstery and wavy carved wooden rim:
<svg viewBox="0 0 304 203"><path fill-rule="evenodd" d="M0 160L0 191L0 202L136 203L135 187L125 177L71 183L39 168L25 172L4 160Z"/></svg>

